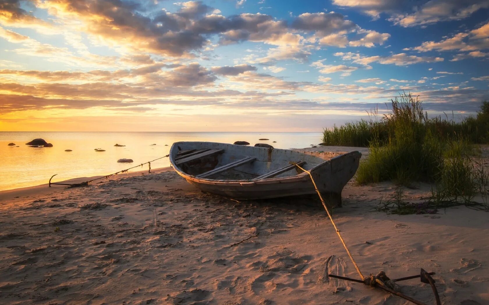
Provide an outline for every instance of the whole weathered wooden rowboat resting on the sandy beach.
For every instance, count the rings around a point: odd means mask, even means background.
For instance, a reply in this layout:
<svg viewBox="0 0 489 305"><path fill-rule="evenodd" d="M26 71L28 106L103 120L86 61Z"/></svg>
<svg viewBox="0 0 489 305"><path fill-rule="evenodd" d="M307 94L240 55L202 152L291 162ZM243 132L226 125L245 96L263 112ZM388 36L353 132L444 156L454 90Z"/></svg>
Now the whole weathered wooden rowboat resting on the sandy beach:
<svg viewBox="0 0 489 305"><path fill-rule="evenodd" d="M204 192L234 199L265 199L316 193L311 175L332 206L355 175L361 153L306 152L215 142L176 142L170 162L187 182Z"/></svg>

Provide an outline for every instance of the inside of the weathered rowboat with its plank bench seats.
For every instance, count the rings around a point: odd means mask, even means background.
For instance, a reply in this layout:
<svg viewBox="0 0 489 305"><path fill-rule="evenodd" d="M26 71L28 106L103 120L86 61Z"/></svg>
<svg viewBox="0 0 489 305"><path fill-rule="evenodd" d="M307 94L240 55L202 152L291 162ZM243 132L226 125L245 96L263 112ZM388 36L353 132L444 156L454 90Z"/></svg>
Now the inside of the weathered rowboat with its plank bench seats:
<svg viewBox="0 0 489 305"><path fill-rule="evenodd" d="M263 147L199 147L180 150L174 156L175 165L199 179L256 181L306 175L289 162L309 170L325 159L296 151ZM228 148L228 149L226 149ZM240 149L241 148L241 149ZM251 148L251 149L250 149Z"/></svg>

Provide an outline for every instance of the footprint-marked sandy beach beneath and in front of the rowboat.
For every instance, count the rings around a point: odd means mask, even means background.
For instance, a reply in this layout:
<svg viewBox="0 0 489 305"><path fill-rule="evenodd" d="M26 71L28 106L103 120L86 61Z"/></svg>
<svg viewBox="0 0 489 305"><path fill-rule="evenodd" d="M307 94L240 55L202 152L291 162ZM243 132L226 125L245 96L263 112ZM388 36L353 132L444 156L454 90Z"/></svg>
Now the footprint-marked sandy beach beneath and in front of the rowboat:
<svg viewBox="0 0 489 305"><path fill-rule="evenodd" d="M83 181L78 179L74 181ZM489 304L489 217L373 212L395 186L343 191L334 219L364 274L434 271L443 304ZM427 186L406 192L422 200ZM237 202L173 170L0 192L1 304L410 304L357 278L314 197ZM429 285L401 291L434 304Z"/></svg>

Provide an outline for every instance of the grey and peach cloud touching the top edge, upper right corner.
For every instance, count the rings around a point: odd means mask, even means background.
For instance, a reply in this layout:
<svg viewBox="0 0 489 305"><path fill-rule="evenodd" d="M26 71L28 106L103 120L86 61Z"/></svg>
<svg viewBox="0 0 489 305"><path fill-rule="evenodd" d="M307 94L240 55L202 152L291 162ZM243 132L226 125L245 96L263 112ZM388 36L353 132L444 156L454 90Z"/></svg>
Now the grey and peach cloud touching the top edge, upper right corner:
<svg viewBox="0 0 489 305"><path fill-rule="evenodd" d="M333 0L333 4L357 8L374 19L385 13L389 16L389 21L402 27L462 20L480 9L489 7L486 0L423 0L417 3L393 0Z"/></svg>

